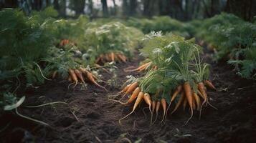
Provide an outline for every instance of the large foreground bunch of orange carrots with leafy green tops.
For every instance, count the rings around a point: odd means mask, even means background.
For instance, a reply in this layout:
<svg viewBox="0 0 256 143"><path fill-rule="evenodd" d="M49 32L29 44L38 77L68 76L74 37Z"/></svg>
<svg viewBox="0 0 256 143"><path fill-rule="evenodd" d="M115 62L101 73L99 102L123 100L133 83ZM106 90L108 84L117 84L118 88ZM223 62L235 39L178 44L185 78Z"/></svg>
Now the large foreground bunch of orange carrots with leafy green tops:
<svg viewBox="0 0 256 143"><path fill-rule="evenodd" d="M128 85L114 97L123 96L119 100L110 99L120 104L135 101L131 113L119 122L132 114L143 100L151 112L151 124L154 112L157 119L160 107L163 109L163 122L169 110L173 114L181 107L189 108L193 117L194 111L201 113L202 107L212 106L209 104L207 88L216 88L209 81L209 65L202 62L199 55L201 47L194 44L194 39L184 40L181 36L162 36L161 33L154 32L147 37L143 40L145 45L141 53L148 57L149 62L130 71L141 71L153 65L157 65L157 68L149 68L144 77L128 79ZM126 102L123 99L127 99Z"/></svg>

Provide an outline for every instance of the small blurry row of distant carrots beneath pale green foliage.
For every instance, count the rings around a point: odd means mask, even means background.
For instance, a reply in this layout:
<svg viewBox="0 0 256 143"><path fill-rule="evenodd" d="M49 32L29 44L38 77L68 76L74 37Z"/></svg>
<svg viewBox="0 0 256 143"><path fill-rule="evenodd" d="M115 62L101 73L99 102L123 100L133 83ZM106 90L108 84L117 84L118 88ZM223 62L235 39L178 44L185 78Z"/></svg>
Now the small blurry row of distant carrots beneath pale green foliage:
<svg viewBox="0 0 256 143"><path fill-rule="evenodd" d="M100 56L95 60L95 63L105 63L105 61L120 61L126 62L127 57L122 53L110 52L108 54L100 54Z"/></svg>

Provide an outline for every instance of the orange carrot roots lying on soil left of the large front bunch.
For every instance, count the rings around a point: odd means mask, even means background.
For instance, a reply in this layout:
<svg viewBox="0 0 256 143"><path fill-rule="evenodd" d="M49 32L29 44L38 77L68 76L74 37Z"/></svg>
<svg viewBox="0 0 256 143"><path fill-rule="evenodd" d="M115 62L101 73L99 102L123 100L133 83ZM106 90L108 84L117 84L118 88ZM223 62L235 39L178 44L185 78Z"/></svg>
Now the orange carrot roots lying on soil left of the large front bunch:
<svg viewBox="0 0 256 143"><path fill-rule="evenodd" d="M84 75L85 77L87 77L87 79L92 82L93 84L95 84L97 87L103 88L105 89L105 87L101 86L100 84L98 84L97 82L97 77L95 77L95 75L93 75L90 71L88 71L85 68L80 67L80 69L68 69L68 78L67 80L70 82L75 83L75 85L77 85L78 82L82 82L82 84L85 84L85 79L84 79ZM55 77L57 77L57 70L52 72L52 79L54 79ZM107 91L107 89L105 89Z"/></svg>

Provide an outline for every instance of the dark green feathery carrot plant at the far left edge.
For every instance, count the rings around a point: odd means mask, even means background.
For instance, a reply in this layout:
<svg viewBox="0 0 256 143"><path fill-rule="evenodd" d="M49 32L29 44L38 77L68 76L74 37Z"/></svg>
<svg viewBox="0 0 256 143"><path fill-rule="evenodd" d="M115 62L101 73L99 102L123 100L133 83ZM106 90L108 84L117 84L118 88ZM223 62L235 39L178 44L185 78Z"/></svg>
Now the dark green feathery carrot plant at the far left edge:
<svg viewBox="0 0 256 143"><path fill-rule="evenodd" d="M45 79L50 80L42 59L53 44L52 32L47 30L50 23L44 21L52 14L42 13L25 16L17 9L0 11L0 104L4 111L15 109L20 117L47 125L19 114L18 107L25 97L16 95L24 87L39 86Z"/></svg>

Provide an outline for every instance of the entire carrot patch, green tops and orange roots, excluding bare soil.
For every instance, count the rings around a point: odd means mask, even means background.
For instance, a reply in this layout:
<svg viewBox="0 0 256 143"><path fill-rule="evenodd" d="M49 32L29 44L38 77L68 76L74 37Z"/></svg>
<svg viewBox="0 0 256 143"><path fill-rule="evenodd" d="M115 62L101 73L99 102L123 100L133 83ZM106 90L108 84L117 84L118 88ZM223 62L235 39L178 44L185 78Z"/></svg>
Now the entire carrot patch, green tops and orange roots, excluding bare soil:
<svg viewBox="0 0 256 143"><path fill-rule="evenodd" d="M107 95L104 85L113 86L113 81L104 81L102 73L114 74L115 63L133 62L137 50L145 60L125 72L143 72L142 76L128 77L120 92L105 97L110 103L133 104L120 124L142 101L148 104L151 125L160 109L161 123L181 107L188 108L191 117L196 111L202 116L205 106L217 109L207 95L217 88L209 78L211 67L202 58L203 47L214 52L215 61L233 65L242 78L256 79L256 24L232 14L189 22L168 16L90 21L86 16L58 19L57 12L47 8L31 16L4 9L0 19L0 114L14 111L39 124L49 125L19 113L25 89L64 79L70 90L87 90L93 84Z"/></svg>

